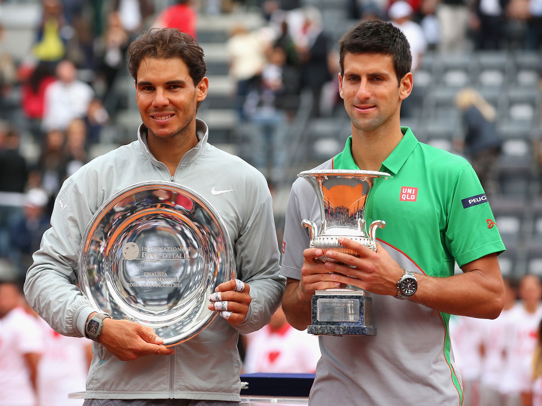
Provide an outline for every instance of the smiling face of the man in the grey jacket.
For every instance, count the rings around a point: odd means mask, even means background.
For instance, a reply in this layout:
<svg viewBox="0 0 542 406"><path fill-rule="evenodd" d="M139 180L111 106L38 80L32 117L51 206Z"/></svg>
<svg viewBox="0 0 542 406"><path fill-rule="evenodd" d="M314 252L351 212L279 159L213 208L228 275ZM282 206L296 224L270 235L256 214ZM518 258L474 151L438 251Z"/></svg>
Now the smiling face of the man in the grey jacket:
<svg viewBox="0 0 542 406"><path fill-rule="evenodd" d="M196 106L207 96L208 87L207 77L197 85L193 83L186 63L180 58L142 60L135 93L149 136L168 139L185 135L195 126Z"/></svg>

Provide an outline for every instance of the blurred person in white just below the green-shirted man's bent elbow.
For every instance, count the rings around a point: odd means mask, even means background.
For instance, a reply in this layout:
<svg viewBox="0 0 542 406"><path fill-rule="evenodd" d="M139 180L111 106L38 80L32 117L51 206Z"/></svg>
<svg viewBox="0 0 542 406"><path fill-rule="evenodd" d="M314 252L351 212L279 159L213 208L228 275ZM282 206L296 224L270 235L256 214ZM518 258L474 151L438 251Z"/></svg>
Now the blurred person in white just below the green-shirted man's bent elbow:
<svg viewBox="0 0 542 406"><path fill-rule="evenodd" d="M461 372L463 406L477 406L482 366L482 319L451 316L450 340L457 368Z"/></svg>

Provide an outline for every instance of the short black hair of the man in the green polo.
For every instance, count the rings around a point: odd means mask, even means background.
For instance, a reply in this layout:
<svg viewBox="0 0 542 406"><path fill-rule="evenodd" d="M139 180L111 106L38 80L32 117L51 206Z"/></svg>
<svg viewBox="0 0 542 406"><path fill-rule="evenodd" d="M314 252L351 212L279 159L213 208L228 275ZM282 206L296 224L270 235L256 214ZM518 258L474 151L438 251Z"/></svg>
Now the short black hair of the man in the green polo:
<svg viewBox="0 0 542 406"><path fill-rule="evenodd" d="M340 39L339 63L341 75L344 75L344 56L346 53L390 55L399 84L403 76L409 73L412 67L410 44L403 31L393 24L379 19L360 21L346 31Z"/></svg>

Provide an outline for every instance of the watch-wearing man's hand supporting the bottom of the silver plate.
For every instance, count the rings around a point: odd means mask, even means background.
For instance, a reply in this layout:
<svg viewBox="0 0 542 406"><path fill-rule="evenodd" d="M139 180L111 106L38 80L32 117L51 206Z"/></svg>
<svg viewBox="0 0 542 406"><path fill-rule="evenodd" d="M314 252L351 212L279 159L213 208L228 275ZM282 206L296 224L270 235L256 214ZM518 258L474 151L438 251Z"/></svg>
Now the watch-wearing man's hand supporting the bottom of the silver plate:
<svg viewBox="0 0 542 406"><path fill-rule="evenodd" d="M120 361L132 361L150 354L175 353L172 348L162 345L164 340L158 337L152 328L128 320L104 319L98 341Z"/></svg>

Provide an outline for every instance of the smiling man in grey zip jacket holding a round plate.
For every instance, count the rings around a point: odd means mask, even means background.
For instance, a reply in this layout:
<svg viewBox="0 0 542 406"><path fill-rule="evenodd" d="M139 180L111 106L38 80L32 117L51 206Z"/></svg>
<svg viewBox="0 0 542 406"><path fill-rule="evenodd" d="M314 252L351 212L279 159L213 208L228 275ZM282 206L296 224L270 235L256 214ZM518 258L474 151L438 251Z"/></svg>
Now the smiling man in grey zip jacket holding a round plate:
<svg viewBox="0 0 542 406"><path fill-rule="evenodd" d="M82 234L96 210L136 182L169 180L194 189L220 213L234 247L236 276L243 283L219 286L227 315L172 348L160 345L163 340L150 328L103 319L85 405L237 404L238 332L266 325L285 287L267 183L246 162L207 143L207 125L196 119L196 110L209 82L203 50L192 37L154 29L130 45L128 56L143 120L138 140L96 158L64 182L25 294L57 332L84 336L96 312L76 286L76 272ZM212 303L209 309L220 310Z"/></svg>

